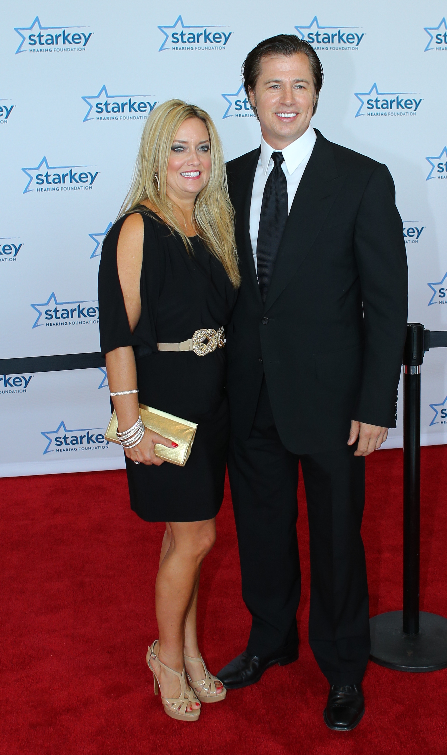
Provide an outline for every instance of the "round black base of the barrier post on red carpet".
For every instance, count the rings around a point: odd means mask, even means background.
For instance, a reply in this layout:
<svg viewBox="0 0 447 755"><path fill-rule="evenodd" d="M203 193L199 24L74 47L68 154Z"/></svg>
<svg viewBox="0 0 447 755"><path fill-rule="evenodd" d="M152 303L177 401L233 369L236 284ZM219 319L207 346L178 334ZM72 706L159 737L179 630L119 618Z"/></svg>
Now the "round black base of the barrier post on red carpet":
<svg viewBox="0 0 447 755"><path fill-rule="evenodd" d="M437 671L447 667L447 618L421 611L419 633L404 634L402 611L373 616L371 661L398 671Z"/></svg>

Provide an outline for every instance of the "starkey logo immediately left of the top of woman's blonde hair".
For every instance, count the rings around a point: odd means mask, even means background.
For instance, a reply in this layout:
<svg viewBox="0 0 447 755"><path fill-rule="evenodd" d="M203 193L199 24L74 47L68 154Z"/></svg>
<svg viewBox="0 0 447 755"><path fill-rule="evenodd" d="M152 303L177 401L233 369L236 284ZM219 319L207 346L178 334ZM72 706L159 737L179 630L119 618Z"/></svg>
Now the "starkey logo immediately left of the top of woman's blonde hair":
<svg viewBox="0 0 447 755"><path fill-rule="evenodd" d="M88 105L82 123L143 121L157 104L153 94L109 94L105 84L97 94L85 95L82 100Z"/></svg>

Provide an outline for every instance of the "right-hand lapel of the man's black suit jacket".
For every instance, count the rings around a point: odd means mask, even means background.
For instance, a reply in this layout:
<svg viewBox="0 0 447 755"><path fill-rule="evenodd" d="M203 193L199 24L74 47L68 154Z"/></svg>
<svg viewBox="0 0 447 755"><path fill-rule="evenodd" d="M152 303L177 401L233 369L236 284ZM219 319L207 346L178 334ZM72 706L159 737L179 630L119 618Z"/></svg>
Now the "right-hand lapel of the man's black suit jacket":
<svg viewBox="0 0 447 755"><path fill-rule="evenodd" d="M345 176L338 175L331 143L319 131L316 134L313 153L294 196L279 245L265 311L304 262L344 183Z"/></svg>

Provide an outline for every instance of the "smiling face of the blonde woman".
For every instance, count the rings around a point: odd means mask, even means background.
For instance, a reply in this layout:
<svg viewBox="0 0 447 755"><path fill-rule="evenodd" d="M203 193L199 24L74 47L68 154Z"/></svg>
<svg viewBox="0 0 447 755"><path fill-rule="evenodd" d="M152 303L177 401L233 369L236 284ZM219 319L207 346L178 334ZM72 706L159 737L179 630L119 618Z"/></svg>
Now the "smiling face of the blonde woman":
<svg viewBox="0 0 447 755"><path fill-rule="evenodd" d="M211 174L208 130L199 118L188 118L175 134L168 162L166 190L171 199L197 196Z"/></svg>

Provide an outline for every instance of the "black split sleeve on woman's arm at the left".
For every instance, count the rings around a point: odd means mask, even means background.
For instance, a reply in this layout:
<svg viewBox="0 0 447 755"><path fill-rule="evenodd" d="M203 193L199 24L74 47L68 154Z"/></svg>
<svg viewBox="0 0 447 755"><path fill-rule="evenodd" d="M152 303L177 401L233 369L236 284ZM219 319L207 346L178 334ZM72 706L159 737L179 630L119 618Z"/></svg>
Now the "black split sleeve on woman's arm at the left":
<svg viewBox="0 0 447 755"><path fill-rule="evenodd" d="M159 263L157 249L154 246L157 247L158 244L153 229L154 221L144 213L141 215L144 223L140 279L141 316L133 333L125 310L116 254L122 224L128 215L116 221L103 241L98 272L100 350L103 355L123 346L143 348L146 353L157 350L155 320L159 294Z"/></svg>

